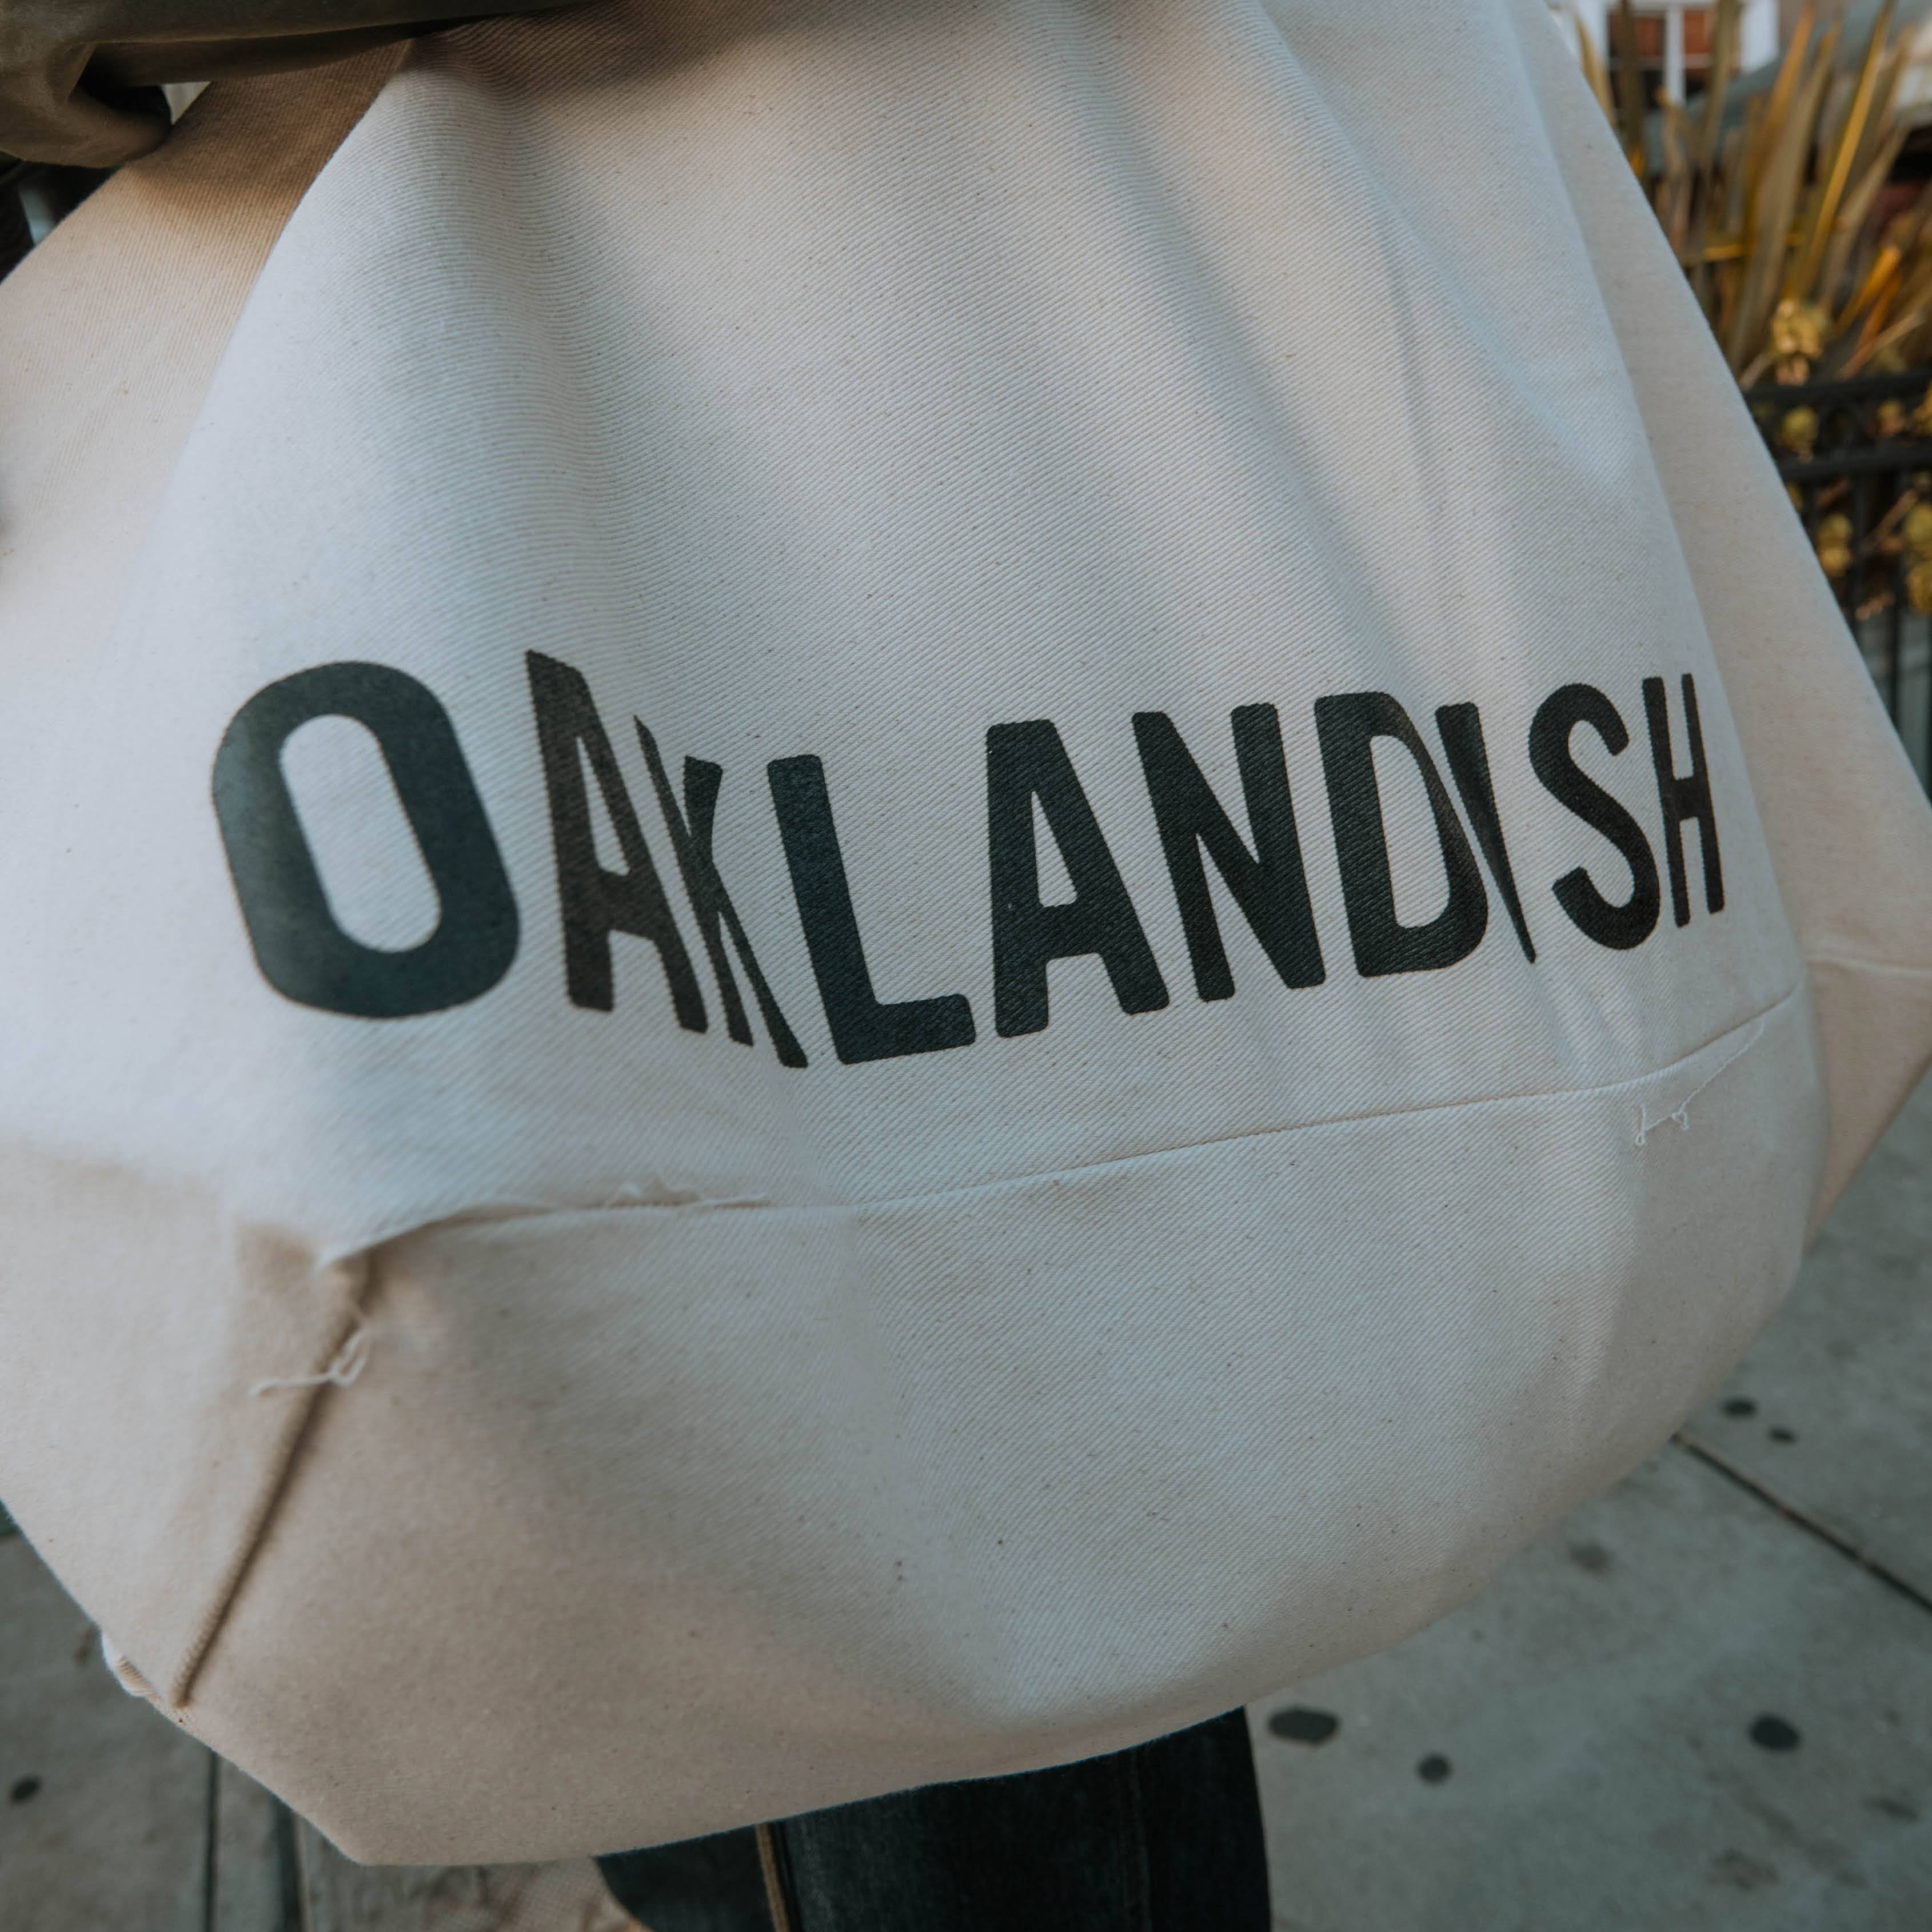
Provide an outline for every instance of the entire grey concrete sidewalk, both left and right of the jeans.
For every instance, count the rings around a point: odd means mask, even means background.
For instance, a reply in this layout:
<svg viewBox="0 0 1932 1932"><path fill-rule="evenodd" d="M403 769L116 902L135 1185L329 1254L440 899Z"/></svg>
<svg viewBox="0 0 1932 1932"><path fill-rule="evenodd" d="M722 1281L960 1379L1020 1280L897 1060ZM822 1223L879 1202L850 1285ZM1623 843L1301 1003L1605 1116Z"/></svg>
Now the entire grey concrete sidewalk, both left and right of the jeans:
<svg viewBox="0 0 1932 1932"><path fill-rule="evenodd" d="M1677 1445L1254 1723L1285 1932L1932 1932L1932 1084ZM0 1932L628 1924L583 1868L344 1866L19 1538L0 1793Z"/></svg>

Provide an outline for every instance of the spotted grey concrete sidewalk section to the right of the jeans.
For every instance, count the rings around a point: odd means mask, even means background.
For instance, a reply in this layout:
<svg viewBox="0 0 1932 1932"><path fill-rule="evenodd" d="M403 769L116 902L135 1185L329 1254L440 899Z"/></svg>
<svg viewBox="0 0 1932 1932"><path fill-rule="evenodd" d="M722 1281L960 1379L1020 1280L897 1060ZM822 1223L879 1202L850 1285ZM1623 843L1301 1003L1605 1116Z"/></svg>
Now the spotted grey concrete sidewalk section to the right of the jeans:
<svg viewBox="0 0 1932 1932"><path fill-rule="evenodd" d="M1673 1447L1254 1718L1293 1932L1928 1932L1932 1084Z"/></svg>

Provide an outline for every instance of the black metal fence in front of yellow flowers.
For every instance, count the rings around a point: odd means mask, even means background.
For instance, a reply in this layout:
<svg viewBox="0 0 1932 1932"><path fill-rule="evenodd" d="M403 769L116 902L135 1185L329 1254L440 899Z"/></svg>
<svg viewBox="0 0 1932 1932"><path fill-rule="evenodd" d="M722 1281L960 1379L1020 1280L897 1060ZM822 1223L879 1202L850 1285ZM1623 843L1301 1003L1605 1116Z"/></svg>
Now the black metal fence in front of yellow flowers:
<svg viewBox="0 0 1932 1932"><path fill-rule="evenodd" d="M1932 784L1932 369L1756 388L1747 400Z"/></svg>

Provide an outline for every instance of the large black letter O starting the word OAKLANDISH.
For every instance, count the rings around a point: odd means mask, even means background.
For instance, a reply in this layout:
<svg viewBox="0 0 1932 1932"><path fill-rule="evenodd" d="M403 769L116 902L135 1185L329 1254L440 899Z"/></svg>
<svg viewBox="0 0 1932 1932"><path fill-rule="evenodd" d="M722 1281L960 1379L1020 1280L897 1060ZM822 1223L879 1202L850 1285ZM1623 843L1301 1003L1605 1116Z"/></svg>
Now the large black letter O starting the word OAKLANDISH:
<svg viewBox="0 0 1932 1932"><path fill-rule="evenodd" d="M367 947L336 922L296 811L282 748L313 719L346 717L383 750L437 889L417 947ZM317 665L257 692L214 757L214 817L263 978L286 999L357 1020L466 1007L510 970L516 898L456 726L435 694L388 665Z"/></svg>

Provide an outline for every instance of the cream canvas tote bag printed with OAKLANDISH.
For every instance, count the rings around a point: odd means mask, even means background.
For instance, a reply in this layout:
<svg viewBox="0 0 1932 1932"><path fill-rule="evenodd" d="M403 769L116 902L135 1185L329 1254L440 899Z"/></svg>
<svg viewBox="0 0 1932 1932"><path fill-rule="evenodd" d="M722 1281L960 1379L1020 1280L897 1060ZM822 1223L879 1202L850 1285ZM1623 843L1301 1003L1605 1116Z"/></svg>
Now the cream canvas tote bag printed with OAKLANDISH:
<svg viewBox="0 0 1932 1932"><path fill-rule="evenodd" d="M0 1493L352 1853L1223 1710L1777 1306L1932 821L1546 14L487 23L0 290Z"/></svg>

